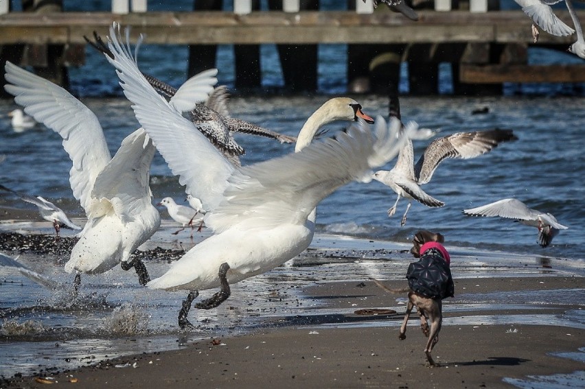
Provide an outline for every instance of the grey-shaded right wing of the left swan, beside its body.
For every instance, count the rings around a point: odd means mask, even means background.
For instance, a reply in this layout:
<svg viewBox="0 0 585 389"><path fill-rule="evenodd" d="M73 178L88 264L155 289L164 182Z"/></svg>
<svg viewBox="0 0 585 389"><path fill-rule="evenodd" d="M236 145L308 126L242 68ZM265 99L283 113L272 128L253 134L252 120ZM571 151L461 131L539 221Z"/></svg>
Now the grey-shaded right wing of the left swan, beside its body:
<svg viewBox="0 0 585 389"><path fill-rule="evenodd" d="M154 145L144 129L128 135L93 186L89 217L100 217L111 207L126 223L151 203L149 177Z"/></svg>

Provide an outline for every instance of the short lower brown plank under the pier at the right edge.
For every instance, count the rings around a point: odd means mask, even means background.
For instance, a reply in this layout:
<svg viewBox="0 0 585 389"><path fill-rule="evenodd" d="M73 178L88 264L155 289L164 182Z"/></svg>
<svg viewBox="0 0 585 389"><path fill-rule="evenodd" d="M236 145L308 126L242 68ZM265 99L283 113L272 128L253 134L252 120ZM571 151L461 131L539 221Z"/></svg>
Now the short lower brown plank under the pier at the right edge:
<svg viewBox="0 0 585 389"><path fill-rule="evenodd" d="M585 64L461 64L459 80L469 84L502 82L585 82Z"/></svg>

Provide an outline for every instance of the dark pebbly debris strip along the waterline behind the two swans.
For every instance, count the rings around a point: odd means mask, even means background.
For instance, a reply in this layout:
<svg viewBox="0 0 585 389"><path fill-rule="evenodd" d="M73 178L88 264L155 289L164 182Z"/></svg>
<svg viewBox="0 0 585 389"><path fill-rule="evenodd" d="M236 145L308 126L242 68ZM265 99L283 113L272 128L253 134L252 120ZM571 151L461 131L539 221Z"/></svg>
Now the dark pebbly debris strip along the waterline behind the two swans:
<svg viewBox="0 0 585 389"><path fill-rule="evenodd" d="M67 257L71 255L77 237L56 237L56 235L22 235L19 233L0 233L0 250L4 252L28 252L36 255L56 255ZM170 250L154 248L152 250L136 250L130 259L176 261L185 255L185 250Z"/></svg>

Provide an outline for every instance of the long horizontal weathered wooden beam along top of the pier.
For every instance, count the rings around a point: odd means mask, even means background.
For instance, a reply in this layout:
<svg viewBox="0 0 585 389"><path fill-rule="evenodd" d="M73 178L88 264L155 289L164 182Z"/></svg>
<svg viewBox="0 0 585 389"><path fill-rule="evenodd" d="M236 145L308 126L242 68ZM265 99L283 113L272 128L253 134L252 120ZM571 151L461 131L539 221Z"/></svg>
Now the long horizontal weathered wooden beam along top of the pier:
<svg viewBox="0 0 585 389"><path fill-rule="evenodd" d="M577 12L585 19L585 12ZM568 13L558 12L569 21ZM0 45L83 43L82 36L107 32L113 21L146 32L159 44L311 43L531 43L531 21L520 10L475 14L420 11L414 22L394 12L60 12L0 15ZM540 34L539 43L567 44L575 38Z"/></svg>

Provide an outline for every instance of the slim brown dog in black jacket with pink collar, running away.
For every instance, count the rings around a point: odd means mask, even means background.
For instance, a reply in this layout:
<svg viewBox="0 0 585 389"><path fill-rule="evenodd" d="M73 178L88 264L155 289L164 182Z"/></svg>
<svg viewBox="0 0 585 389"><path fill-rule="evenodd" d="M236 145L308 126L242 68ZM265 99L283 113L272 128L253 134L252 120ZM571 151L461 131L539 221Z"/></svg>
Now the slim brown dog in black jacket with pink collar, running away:
<svg viewBox="0 0 585 389"><path fill-rule="evenodd" d="M441 300L445 297L453 296L455 289L449 270L450 257L447 250L441 245L443 242L443 235L431 233L430 231L419 231L413 238L411 254L416 258L421 258L421 260L411 263L409 271L406 273L411 290L409 292L409 302L406 305L404 322L400 326L400 334L398 335L400 340L406 339L406 323L409 321L413 307L416 307L420 316L420 328L422 333L428 337L424 353L431 366L435 366L431 351L439 341L439 331L441 331L443 322ZM423 264L421 265L421 263ZM415 269L417 266L422 266L424 274L429 272L432 274L433 268L434 271L441 274L431 277L433 280L430 282L433 285L423 285L428 281L424 280L424 276L420 276L422 273L417 274ZM431 320L430 329L427 320Z"/></svg>

